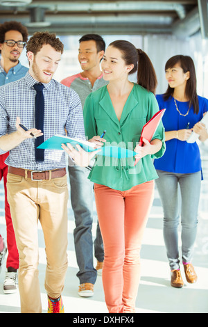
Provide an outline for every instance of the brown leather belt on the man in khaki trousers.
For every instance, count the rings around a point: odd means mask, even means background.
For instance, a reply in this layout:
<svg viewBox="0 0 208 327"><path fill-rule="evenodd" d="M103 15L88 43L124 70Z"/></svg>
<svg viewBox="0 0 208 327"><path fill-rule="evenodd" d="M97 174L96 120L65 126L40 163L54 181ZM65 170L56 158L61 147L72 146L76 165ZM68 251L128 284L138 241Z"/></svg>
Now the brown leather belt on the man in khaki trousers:
<svg viewBox="0 0 208 327"><path fill-rule="evenodd" d="M8 173L22 176L22 177L28 177L31 178L31 180L41 181L41 180L49 180L49 178L63 177L64 175L66 175L67 172L66 172L66 168L39 171L39 170L26 170L26 169L9 166Z"/></svg>

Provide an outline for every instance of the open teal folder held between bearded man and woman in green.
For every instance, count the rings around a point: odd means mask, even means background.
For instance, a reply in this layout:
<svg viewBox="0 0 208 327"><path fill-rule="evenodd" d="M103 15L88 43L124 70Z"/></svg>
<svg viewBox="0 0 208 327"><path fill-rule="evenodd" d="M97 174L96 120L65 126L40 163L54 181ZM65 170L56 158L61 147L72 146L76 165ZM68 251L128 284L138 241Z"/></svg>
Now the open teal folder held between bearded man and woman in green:
<svg viewBox="0 0 208 327"><path fill-rule="evenodd" d="M51 138L48 138L44 143L39 145L38 149L48 149L48 150L62 150L62 143L71 143L71 145L75 146L76 144L79 144L81 147L83 147L83 150L87 152L92 152L96 149L95 145L91 142L82 141L77 138L69 138L67 136L62 135L55 135ZM134 152L132 150L125 149L124 147L116 147L116 146L103 146L101 147L100 151L97 153L97 155L103 155L105 157L114 157L114 158L129 158L134 157L137 152Z"/></svg>

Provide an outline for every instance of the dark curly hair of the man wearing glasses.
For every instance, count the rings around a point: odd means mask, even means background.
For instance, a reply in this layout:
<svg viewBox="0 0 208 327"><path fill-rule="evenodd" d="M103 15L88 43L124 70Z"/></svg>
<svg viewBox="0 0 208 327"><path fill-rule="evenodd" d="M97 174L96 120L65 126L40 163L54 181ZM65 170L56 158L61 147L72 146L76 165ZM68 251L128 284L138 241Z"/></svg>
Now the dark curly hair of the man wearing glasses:
<svg viewBox="0 0 208 327"><path fill-rule="evenodd" d="M27 42L28 30L26 29L26 27L19 22L11 21L0 24L0 43L3 43L5 41L5 34L8 31L18 31L19 33L21 33L23 41Z"/></svg>

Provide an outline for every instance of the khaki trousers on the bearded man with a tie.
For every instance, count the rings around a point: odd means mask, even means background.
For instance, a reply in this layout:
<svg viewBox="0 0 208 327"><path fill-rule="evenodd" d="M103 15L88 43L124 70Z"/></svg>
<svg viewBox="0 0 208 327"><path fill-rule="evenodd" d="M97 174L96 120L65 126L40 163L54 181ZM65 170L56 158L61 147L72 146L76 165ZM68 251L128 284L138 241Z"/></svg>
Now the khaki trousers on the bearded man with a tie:
<svg viewBox="0 0 208 327"><path fill-rule="evenodd" d="M58 298L67 272L67 175L32 181L8 173L8 202L19 250L21 312L42 312L38 280L38 219L46 246L45 289Z"/></svg>

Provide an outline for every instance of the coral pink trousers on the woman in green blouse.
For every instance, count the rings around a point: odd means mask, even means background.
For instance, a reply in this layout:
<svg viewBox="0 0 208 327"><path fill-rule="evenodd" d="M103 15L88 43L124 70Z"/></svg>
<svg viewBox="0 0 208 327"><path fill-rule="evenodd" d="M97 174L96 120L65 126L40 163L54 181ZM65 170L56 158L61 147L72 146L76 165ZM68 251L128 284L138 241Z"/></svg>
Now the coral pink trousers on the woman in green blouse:
<svg viewBox="0 0 208 327"><path fill-rule="evenodd" d="M116 191L95 184L105 259L103 288L109 312L135 312L141 240L153 204L154 181Z"/></svg>

